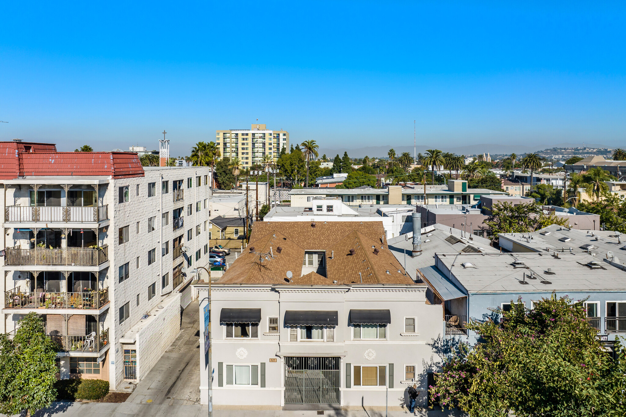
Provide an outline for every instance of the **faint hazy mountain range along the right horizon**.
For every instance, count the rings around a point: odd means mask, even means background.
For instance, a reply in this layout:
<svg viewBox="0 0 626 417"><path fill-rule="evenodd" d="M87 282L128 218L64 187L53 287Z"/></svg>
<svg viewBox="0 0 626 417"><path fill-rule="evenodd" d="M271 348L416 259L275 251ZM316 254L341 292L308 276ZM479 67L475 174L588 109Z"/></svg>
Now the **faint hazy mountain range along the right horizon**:
<svg viewBox="0 0 626 417"><path fill-rule="evenodd" d="M438 148L444 152L451 152L458 155L475 155L481 153L490 153L490 154L511 154L516 153L518 155L528 153L528 152L537 152L542 151L547 148L580 148L582 146L586 146L588 148L610 148L607 146L603 146L600 144L592 144L592 143L582 143L573 144L573 143L560 143L555 144L554 146L545 146L538 149L537 146L525 146L525 145L503 145L503 144L494 144L494 143L481 143L476 145L468 145L468 146L456 146L451 148ZM356 149L329 149L329 148L320 148L318 150L319 155L322 156L326 154L328 159L335 158L335 155L339 154L339 156L344 156L344 152L348 153L350 158L363 158L364 156L369 157L386 157L389 149L393 148L396 151L396 155L399 155L403 152L409 152L413 155L413 146L368 146L366 148L356 148ZM426 149L431 149L431 146L418 146L418 153L425 153Z"/></svg>

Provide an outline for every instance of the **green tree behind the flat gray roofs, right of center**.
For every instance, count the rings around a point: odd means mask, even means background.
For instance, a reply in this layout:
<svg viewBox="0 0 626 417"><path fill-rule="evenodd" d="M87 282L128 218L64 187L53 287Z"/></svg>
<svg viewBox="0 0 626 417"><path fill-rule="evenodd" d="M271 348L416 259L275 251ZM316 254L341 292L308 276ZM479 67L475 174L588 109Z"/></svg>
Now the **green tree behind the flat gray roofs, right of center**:
<svg viewBox="0 0 626 417"><path fill-rule="evenodd" d="M493 239L498 241L498 233L534 232L550 224L566 226L568 219L567 216L544 214L535 201L517 206L500 201L491 206L491 213L485 224L491 230Z"/></svg>

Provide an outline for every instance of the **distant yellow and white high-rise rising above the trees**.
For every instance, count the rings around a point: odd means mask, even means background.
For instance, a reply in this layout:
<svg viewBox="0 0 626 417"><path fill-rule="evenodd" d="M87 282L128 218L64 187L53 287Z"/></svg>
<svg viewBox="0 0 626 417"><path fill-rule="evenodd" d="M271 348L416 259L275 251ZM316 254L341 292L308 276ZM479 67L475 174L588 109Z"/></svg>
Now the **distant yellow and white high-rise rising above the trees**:
<svg viewBox="0 0 626 417"><path fill-rule="evenodd" d="M265 124L252 124L248 129L215 131L215 143L222 158L239 158L244 167L259 164L265 155L277 161L280 149L289 152L289 132L269 130Z"/></svg>

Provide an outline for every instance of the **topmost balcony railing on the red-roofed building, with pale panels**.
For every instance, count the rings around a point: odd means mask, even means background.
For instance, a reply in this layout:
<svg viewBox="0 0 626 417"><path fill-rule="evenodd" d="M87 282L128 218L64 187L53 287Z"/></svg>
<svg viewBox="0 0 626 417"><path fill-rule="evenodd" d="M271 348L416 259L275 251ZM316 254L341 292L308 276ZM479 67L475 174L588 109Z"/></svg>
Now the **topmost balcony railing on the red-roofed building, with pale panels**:
<svg viewBox="0 0 626 417"><path fill-rule="evenodd" d="M5 222L91 223L109 218L108 204L99 207L7 206Z"/></svg>

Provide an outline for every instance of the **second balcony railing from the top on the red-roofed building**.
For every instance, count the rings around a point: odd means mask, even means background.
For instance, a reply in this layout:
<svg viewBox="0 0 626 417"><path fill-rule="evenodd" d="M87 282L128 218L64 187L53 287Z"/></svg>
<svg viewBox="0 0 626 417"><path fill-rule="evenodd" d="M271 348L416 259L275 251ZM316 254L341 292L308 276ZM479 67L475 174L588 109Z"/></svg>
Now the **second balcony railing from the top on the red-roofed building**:
<svg viewBox="0 0 626 417"><path fill-rule="evenodd" d="M6 249L5 265L79 265L98 266L109 260L109 248Z"/></svg>

